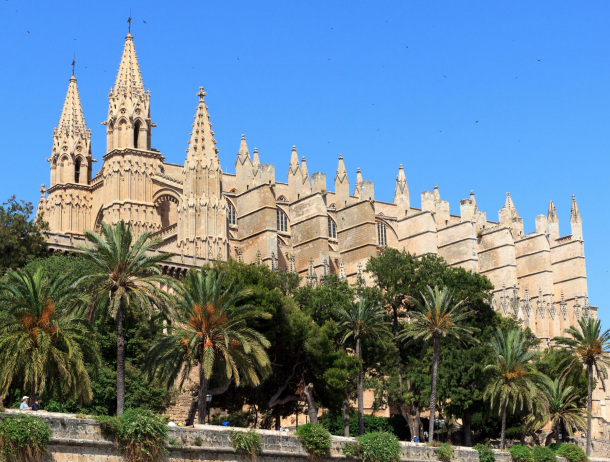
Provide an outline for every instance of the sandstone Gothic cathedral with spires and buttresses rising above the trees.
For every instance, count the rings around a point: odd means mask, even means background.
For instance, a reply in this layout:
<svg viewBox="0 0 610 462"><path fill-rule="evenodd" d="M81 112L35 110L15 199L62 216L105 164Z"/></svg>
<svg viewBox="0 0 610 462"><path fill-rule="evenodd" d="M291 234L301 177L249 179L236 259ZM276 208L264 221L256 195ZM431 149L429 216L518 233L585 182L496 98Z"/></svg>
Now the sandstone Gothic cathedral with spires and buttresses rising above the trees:
<svg viewBox="0 0 610 462"><path fill-rule="evenodd" d="M330 273L354 281L367 259L389 246L438 254L487 276L495 287L494 307L523 319L546 341L582 316L597 316L587 298L574 197L572 234L559 235L551 201L548 214L537 216L536 230L526 235L510 194L497 221L478 209L472 192L460 201L459 215L450 212L437 187L421 194L419 208L413 206L402 165L392 202L375 198L373 182L360 169L351 189L341 156L334 192L327 190L326 175L310 176L294 146L287 181L276 181L275 167L261 163L256 148L251 155L243 135L235 173L223 172L205 95L200 88L184 165L165 162L151 147L150 92L128 34L108 96L106 154L93 177L91 132L72 76L47 159L50 187L43 185L38 204L50 224L51 248L70 250L84 230L125 220L136 234L161 237L158 251L178 255L164 267L170 274L233 258L296 272L315 284ZM598 404L605 417L605 406Z"/></svg>

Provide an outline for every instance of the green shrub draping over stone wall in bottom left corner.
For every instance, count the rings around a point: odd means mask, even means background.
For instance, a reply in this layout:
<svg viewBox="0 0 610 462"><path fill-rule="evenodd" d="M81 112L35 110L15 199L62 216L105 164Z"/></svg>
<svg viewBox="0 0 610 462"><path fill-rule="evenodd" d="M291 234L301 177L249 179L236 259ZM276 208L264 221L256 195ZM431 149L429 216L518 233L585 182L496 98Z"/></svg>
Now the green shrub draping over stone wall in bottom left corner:
<svg viewBox="0 0 610 462"><path fill-rule="evenodd" d="M34 462L47 455L51 429L30 415L7 417L0 423L0 454L6 462Z"/></svg>

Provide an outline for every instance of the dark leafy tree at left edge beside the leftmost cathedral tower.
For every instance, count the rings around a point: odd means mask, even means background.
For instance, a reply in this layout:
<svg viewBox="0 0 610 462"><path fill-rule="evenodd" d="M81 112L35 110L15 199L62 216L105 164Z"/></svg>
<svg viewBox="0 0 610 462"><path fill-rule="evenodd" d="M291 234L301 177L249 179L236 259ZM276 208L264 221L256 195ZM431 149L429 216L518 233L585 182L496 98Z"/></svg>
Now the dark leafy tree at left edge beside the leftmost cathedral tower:
<svg viewBox="0 0 610 462"><path fill-rule="evenodd" d="M0 206L0 274L9 269L22 268L28 261L47 252L42 235L48 225L42 217L31 219L31 202L11 196Z"/></svg>

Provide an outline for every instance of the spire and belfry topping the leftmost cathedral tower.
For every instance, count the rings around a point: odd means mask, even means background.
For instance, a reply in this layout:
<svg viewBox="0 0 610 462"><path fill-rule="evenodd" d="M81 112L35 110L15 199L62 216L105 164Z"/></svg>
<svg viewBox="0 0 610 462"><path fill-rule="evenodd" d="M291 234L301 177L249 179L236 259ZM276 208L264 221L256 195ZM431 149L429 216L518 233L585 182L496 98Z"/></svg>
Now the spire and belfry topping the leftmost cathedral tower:
<svg viewBox="0 0 610 462"><path fill-rule="evenodd" d="M66 99L53 131L51 187L58 183L88 184L91 180L91 130L85 125L76 77L70 77Z"/></svg>

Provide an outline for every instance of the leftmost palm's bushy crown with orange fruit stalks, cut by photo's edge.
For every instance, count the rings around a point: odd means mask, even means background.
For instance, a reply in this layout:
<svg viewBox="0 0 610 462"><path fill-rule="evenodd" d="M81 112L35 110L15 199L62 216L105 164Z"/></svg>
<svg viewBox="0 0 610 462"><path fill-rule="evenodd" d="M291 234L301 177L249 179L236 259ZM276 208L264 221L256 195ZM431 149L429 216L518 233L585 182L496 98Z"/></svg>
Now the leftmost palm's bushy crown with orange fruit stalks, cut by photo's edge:
<svg viewBox="0 0 610 462"><path fill-rule="evenodd" d="M91 326L70 310L84 296L69 276L36 271L9 271L0 282L0 396L16 380L34 399L56 390L64 397L89 402L99 353Z"/></svg>

